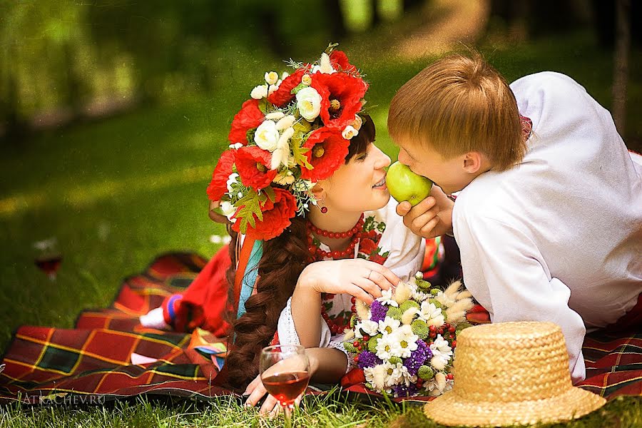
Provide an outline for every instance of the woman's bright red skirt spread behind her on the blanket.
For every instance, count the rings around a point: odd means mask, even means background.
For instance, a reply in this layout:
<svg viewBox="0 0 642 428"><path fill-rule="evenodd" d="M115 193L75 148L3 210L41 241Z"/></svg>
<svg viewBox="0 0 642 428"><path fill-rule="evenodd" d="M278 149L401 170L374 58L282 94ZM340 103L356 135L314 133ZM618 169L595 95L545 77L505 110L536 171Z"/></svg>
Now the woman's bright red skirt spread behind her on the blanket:
<svg viewBox="0 0 642 428"><path fill-rule="evenodd" d="M232 261L228 245L223 246L183 292L174 305L174 330L188 332L195 327L212 332L216 337L228 335L230 325L225 321L228 303L228 281L225 272ZM163 301L163 315L168 318L168 301Z"/></svg>

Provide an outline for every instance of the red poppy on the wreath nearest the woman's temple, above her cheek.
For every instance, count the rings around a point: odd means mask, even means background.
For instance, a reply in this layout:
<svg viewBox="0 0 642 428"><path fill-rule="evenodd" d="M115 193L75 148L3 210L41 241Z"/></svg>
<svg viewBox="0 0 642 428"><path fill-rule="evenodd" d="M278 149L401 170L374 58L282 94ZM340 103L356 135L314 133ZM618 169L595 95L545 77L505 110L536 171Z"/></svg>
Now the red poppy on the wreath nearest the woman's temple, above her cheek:
<svg viewBox="0 0 642 428"><path fill-rule="evenodd" d="M310 148L305 156L313 169L302 167L301 178L316 182L330 177L345 162L348 146L340 131L324 127L312 132L303 147Z"/></svg>

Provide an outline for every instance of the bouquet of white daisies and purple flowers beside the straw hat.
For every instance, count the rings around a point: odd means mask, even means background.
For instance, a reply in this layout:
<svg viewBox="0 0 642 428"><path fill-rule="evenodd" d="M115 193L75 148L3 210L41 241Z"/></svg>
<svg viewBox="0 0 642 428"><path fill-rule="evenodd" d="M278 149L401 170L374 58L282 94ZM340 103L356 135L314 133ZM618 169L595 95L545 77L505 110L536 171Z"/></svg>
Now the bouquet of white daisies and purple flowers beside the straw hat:
<svg viewBox="0 0 642 428"><path fill-rule="evenodd" d="M394 397L437 396L452 388L457 332L470 326L466 312L472 307L461 282L442 291L417 272L370 307L357 300L343 345L369 389Z"/></svg>

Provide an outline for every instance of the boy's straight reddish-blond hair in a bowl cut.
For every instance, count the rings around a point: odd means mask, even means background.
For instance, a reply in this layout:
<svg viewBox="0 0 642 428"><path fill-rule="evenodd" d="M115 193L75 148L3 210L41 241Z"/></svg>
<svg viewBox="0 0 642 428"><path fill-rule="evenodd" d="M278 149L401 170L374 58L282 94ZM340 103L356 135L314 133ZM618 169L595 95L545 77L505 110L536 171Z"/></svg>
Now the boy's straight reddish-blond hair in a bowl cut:
<svg viewBox="0 0 642 428"><path fill-rule="evenodd" d="M388 131L434 148L444 158L479 151L506 170L526 153L515 96L481 55L447 56L424 68L394 95Z"/></svg>

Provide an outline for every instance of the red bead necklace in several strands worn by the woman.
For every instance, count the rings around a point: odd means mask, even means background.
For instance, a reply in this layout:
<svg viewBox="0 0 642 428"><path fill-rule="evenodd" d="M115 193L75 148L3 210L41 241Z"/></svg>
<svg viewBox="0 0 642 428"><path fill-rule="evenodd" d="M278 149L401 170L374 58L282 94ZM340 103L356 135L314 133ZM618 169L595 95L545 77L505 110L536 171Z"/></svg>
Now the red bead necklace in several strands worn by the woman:
<svg viewBox="0 0 642 428"><path fill-rule="evenodd" d="M355 256L355 246L361 239L362 235L367 235L367 233L363 233L363 224L364 224L363 218L364 218L364 215L362 214L361 217L359 218L359 221L357 221L357 224L352 229L347 230L346 232L329 232L327 230L322 230L320 228L317 228L308 220L307 229L309 233L307 237L307 246L308 246L308 249L310 250L310 254L312 254L314 259L317 261L324 260L325 258L329 258L329 257L332 257L333 260L353 258ZM348 247L343 251L324 251L314 244L314 239L311 236L312 233L317 236L325 236L327 238L352 237L352 240L350 240L350 245L348 245ZM325 293L325 297L328 300L332 300L335 297L335 295L330 293ZM352 313L355 313L357 310L357 307L356 307L357 298L352 297L350 301L352 302L352 307L350 308L350 310ZM342 334L350 324L350 320L347 320L348 325L340 325L334 320L331 320L330 315L327 315L327 312L325 311L325 307L323 305L321 305L321 317L323 318L323 320L325 320L327 327L330 328L330 332L332 332L332 335Z"/></svg>

